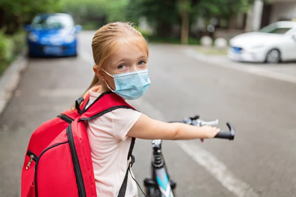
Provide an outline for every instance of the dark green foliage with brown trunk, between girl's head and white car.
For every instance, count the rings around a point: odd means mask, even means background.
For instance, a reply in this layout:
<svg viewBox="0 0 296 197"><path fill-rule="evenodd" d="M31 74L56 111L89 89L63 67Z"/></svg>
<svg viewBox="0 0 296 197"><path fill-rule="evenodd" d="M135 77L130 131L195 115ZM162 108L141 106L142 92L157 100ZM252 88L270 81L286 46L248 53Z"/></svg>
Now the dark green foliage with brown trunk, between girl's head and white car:
<svg viewBox="0 0 296 197"><path fill-rule="evenodd" d="M130 0L131 19L146 16L160 36L167 36L172 25L181 27L181 39L187 43L190 24L198 16L209 23L212 17L230 21L238 12L247 12L255 0ZM265 0L264 0L265 1Z"/></svg>

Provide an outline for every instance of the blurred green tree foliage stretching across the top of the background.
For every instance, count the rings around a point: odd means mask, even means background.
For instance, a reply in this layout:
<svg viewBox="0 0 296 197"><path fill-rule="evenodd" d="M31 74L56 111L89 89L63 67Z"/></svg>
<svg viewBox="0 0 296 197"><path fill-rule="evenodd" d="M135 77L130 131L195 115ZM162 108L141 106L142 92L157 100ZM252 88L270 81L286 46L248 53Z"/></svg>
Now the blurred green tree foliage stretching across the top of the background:
<svg viewBox="0 0 296 197"><path fill-rule="evenodd" d="M230 21L238 12L247 12L255 0L0 0L0 29L16 32L37 13L64 12L77 23L95 28L110 21L138 22L145 16L159 36L169 36L174 26L188 39L190 24L200 16ZM264 0L265 1L265 0ZM184 38L185 36L185 38Z"/></svg>

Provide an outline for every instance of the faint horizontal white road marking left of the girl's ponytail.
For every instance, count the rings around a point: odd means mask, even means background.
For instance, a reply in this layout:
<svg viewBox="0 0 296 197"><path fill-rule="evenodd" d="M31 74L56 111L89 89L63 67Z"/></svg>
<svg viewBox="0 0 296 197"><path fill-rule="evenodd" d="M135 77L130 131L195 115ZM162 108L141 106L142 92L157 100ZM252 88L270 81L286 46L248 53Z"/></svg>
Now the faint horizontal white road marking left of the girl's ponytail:
<svg viewBox="0 0 296 197"><path fill-rule="evenodd" d="M38 92L40 97L80 97L85 89L41 89Z"/></svg>

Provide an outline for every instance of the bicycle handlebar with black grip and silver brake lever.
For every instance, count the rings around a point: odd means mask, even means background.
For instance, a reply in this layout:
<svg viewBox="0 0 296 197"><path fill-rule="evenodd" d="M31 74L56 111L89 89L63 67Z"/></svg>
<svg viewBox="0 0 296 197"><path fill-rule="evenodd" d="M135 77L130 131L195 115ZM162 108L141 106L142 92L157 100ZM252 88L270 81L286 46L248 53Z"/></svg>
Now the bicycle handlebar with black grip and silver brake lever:
<svg viewBox="0 0 296 197"><path fill-rule="evenodd" d="M171 121L170 123L185 123L188 125L193 125L193 126L204 126L204 125L209 125L209 126L214 126L214 125L218 125L219 124L219 120L216 119L215 121L203 121L201 119L199 119L199 116L194 116L191 118L185 118L183 119L183 121ZM229 131L220 131L214 138L222 138L222 139L229 139L229 140L233 140L234 136L235 136L235 129L233 128L233 126L227 122L226 123Z"/></svg>

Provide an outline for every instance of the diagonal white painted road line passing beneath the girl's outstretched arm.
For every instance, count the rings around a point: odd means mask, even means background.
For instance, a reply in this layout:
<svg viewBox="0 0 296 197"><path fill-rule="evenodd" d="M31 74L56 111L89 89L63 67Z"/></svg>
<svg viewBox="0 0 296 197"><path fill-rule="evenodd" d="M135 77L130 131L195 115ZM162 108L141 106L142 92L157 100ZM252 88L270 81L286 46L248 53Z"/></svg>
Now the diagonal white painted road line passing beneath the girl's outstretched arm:
<svg viewBox="0 0 296 197"><path fill-rule="evenodd" d="M145 112L149 117L157 120L165 120L164 114L156 109L151 103L143 98L128 101L137 109ZM176 142L184 152L189 155L197 164L204 167L223 187L235 194L237 197L259 197L248 183L235 177L225 164L220 162L210 152L204 150L197 144L190 144L187 141Z"/></svg>

